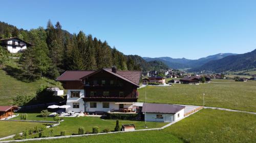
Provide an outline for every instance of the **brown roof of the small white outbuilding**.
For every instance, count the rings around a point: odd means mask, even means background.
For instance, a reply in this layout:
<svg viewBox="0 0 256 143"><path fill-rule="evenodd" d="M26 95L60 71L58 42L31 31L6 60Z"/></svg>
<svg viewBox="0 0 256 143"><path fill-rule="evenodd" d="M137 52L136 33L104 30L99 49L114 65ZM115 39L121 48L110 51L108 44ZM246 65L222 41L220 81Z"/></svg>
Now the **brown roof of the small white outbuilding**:
<svg viewBox="0 0 256 143"><path fill-rule="evenodd" d="M154 104L154 103L143 103L142 112L151 113L177 113L184 109L185 106L174 105L174 104Z"/></svg>

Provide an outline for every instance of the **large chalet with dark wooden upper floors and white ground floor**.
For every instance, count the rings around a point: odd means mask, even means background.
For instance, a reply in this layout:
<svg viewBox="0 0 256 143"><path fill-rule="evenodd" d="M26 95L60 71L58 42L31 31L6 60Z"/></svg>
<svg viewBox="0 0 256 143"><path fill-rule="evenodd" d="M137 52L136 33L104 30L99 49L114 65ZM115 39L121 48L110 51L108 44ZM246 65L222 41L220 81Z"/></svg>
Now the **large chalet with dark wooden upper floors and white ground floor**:
<svg viewBox="0 0 256 143"><path fill-rule="evenodd" d="M56 80L67 90L68 111L108 112L132 109L139 93L140 71L66 71ZM131 111L131 110L129 110Z"/></svg>

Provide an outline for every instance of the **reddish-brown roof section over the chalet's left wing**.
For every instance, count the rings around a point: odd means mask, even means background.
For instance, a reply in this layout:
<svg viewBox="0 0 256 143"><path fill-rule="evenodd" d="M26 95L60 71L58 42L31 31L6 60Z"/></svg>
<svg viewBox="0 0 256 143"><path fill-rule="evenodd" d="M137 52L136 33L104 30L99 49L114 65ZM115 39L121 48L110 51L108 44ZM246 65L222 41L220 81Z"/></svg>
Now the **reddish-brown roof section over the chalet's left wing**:
<svg viewBox="0 0 256 143"><path fill-rule="evenodd" d="M65 71L56 79L56 81L80 80L80 78L87 76L93 72L95 71Z"/></svg>

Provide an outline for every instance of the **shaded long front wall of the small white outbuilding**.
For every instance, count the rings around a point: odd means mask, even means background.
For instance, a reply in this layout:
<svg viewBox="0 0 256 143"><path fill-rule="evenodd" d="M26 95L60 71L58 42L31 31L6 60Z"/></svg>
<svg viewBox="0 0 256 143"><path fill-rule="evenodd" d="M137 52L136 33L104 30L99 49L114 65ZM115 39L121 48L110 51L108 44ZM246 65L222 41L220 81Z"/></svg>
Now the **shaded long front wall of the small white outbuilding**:
<svg viewBox="0 0 256 143"><path fill-rule="evenodd" d="M157 115L163 115L163 119L155 119ZM146 121L150 122L173 122L173 118L171 113L146 113Z"/></svg>

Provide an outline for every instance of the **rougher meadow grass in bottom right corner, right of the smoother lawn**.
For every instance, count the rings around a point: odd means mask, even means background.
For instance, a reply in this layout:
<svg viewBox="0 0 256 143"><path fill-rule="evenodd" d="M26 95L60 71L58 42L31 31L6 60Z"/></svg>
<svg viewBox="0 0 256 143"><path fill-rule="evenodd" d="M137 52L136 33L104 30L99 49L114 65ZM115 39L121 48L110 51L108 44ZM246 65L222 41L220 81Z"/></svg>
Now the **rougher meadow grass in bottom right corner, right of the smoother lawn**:
<svg viewBox="0 0 256 143"><path fill-rule="evenodd" d="M189 142L255 142L256 115L203 109L166 131Z"/></svg>

